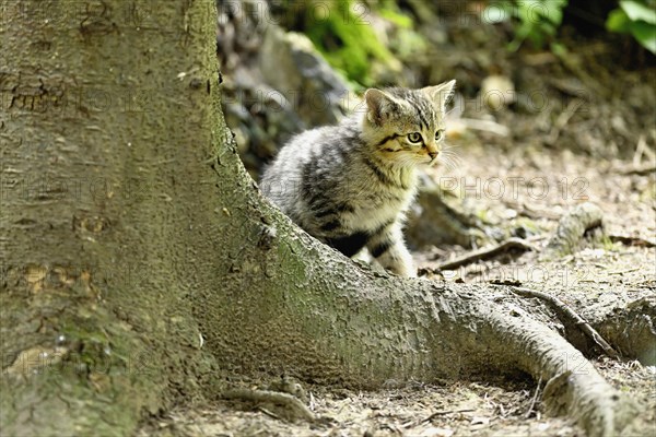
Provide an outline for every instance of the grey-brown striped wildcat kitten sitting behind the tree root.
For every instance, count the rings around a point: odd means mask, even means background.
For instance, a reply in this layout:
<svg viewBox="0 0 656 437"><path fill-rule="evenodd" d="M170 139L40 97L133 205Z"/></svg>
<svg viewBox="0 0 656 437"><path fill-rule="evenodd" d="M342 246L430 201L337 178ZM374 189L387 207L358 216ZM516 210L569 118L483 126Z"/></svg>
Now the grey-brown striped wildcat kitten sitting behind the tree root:
<svg viewBox="0 0 656 437"><path fill-rule="evenodd" d="M347 257L366 247L385 269L415 276L401 229L417 167L440 161L454 86L367 90L364 114L305 131L282 147L265 170L262 192Z"/></svg>

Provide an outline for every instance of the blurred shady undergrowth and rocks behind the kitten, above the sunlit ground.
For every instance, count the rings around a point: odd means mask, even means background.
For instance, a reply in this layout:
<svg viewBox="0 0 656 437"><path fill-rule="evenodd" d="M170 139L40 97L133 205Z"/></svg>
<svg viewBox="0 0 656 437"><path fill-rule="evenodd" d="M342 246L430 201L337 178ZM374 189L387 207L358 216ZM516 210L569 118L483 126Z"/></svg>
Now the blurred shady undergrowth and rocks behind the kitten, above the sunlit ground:
<svg viewBox="0 0 656 437"><path fill-rule="evenodd" d="M649 133L656 0L216 4L224 111L254 176L292 134L337 122L367 86L455 78L456 115L513 126L525 144L604 157L632 152ZM578 110L569 115L569 105ZM559 117L585 122L585 132L559 128ZM471 133L452 127L453 138Z"/></svg>

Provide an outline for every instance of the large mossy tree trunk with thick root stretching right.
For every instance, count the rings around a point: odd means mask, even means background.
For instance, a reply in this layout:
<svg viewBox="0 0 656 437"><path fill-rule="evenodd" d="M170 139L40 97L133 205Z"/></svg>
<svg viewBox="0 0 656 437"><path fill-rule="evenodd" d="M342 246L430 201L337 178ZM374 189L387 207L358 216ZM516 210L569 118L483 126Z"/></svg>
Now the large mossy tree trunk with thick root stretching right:
<svg viewBox="0 0 656 437"><path fill-rule="evenodd" d="M272 208L222 119L212 2L149 4L1 3L4 433L125 435L262 371L524 371L590 435L631 418L546 327L359 267Z"/></svg>

